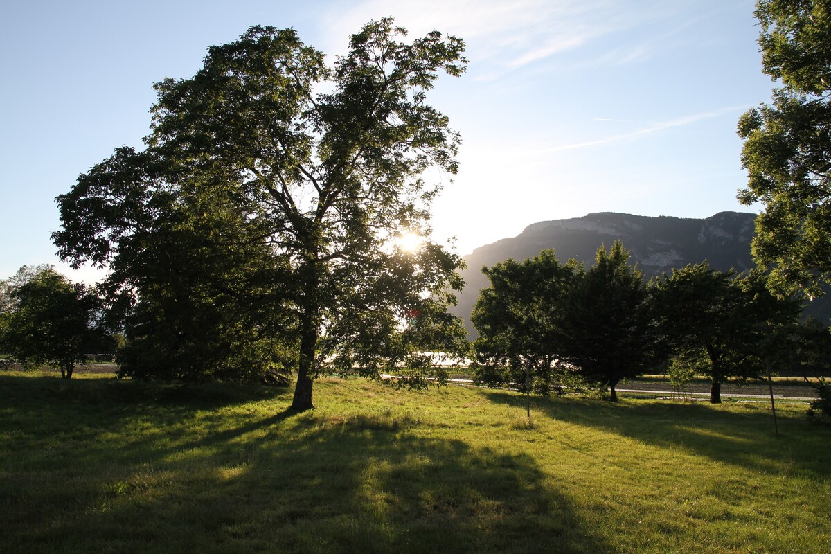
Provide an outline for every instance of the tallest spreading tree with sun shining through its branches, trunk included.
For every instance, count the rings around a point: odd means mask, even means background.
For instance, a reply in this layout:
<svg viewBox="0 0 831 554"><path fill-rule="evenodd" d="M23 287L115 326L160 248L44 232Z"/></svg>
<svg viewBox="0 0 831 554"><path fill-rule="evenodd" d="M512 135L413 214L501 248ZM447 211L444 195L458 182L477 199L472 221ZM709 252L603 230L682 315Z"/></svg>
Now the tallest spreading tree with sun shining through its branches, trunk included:
<svg viewBox="0 0 831 554"><path fill-rule="evenodd" d="M460 258L395 239L430 233L438 186L425 170L455 173L459 137L425 93L440 71L464 71L464 43L435 31L399 42L405 34L371 22L333 67L291 29L251 27L210 47L194 77L155 86L145 150L116 151L58 198L61 257L117 265L171 203L219 188L250 226L243 237L288 270L293 409L312 408L322 360L377 375L424 367L419 352L460 350L460 322L443 310Z"/></svg>

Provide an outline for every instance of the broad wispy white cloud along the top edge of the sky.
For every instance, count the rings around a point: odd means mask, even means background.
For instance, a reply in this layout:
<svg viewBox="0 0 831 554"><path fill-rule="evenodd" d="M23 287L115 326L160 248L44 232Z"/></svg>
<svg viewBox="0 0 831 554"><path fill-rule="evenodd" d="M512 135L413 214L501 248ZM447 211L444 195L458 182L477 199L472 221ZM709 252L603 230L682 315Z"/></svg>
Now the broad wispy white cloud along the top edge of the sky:
<svg viewBox="0 0 831 554"><path fill-rule="evenodd" d="M587 49L588 62L641 61L659 49L640 33L620 34L671 18L679 9L652 0L364 0L346 12L325 15L322 24L332 29L332 37L347 37L363 23L388 15L414 35L439 28L468 42L474 77L489 80L580 48ZM597 46L612 36L617 37L613 47Z"/></svg>

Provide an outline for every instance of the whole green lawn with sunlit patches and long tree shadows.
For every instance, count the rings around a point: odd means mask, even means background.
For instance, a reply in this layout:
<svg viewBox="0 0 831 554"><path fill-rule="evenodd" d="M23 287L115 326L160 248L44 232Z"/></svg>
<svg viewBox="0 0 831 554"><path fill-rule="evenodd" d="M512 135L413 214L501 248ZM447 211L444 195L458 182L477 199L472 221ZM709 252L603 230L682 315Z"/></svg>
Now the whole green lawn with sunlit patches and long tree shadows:
<svg viewBox="0 0 831 554"><path fill-rule="evenodd" d="M0 374L0 552L829 552L807 404Z"/></svg>

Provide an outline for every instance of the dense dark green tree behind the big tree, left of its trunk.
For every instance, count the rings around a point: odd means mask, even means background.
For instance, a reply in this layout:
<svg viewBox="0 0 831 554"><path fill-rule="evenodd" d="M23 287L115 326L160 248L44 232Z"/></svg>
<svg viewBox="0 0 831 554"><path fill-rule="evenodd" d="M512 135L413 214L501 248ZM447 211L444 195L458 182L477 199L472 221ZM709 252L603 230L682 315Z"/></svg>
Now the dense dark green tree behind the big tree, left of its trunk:
<svg viewBox="0 0 831 554"><path fill-rule="evenodd" d="M211 194L180 197L112 265L111 319L129 338L119 375L288 385L297 359L288 268L228 209L223 189L200 192Z"/></svg>

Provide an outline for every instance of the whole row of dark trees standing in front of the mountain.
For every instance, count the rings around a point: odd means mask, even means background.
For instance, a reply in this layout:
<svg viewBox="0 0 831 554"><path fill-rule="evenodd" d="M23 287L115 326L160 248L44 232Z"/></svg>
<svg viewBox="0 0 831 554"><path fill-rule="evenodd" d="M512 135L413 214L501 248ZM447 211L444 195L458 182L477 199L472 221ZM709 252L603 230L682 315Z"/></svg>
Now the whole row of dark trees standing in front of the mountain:
<svg viewBox="0 0 831 554"><path fill-rule="evenodd" d="M548 394L579 380L617 400L621 380L669 365L706 375L718 403L725 380L828 351L828 329L800 324L799 298L771 292L760 270L719 272L702 262L646 282L617 241L588 269L548 250L483 271L490 287L473 312L473 347L485 385Z"/></svg>

